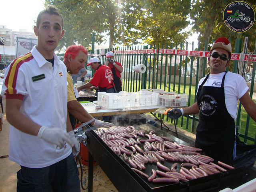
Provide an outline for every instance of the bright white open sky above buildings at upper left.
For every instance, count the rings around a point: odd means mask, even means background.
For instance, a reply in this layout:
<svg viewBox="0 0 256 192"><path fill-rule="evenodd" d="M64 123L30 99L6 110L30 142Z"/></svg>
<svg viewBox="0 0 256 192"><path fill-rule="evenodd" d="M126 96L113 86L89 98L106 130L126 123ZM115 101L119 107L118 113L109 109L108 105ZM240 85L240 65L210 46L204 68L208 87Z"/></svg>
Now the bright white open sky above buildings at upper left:
<svg viewBox="0 0 256 192"><path fill-rule="evenodd" d="M34 21L43 9L43 0L2 0L0 24L12 30L34 32Z"/></svg>

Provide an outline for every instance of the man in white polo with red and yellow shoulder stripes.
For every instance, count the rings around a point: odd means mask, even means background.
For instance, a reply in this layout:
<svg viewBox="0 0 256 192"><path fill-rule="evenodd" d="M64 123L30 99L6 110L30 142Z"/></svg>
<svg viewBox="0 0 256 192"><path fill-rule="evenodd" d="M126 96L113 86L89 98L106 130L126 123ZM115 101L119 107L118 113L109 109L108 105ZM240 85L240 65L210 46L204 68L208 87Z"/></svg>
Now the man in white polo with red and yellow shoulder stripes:
<svg viewBox="0 0 256 192"><path fill-rule="evenodd" d="M38 44L8 66L1 95L10 123L10 160L20 164L17 191L79 192L80 144L67 116L66 66L54 54L64 35L54 6L38 14ZM73 154L72 154L73 147Z"/></svg>

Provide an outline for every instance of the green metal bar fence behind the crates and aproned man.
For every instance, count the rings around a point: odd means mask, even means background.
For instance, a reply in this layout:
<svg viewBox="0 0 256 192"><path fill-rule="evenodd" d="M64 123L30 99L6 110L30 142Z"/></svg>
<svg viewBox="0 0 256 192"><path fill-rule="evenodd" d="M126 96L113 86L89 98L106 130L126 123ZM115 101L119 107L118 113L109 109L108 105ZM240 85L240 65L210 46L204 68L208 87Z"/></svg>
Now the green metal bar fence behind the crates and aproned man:
<svg viewBox="0 0 256 192"><path fill-rule="evenodd" d="M235 53L241 52L241 40L237 40L240 43L236 43ZM198 51L207 51L208 43L205 42L206 48L198 47ZM169 52L163 52L162 49L168 49ZM191 50L195 50L194 43L192 43ZM172 50L180 50L184 53L172 54ZM120 47L113 50L105 49L107 51L115 52L115 60L120 62L124 68L122 73L122 90L127 92L137 92L141 89L162 89L165 91L174 91L177 93L186 93L189 95L188 106L192 105L196 101L197 84L201 77L208 74L208 65L206 57L189 56L188 43L173 43L165 45L154 46L130 46ZM89 50L91 54L91 51ZM94 50L94 54L88 57L88 61L91 57L100 55L102 50ZM255 54L255 50L254 50ZM200 75L200 60L202 60L202 74ZM104 63L105 56L100 56L100 61ZM146 72L144 74L134 72L134 66L137 64L144 64L146 66ZM237 72L238 61L232 60L229 71ZM256 62L253 62L249 70L243 74L250 90L254 90L255 83L255 66ZM90 70L90 67L88 67ZM253 91L250 91L252 97ZM237 113L236 125L238 128L238 134L240 138L249 144L256 144L256 122L250 119L250 116L239 105ZM164 118L168 120L167 117ZM196 122L198 116L184 116L177 120L178 125L190 132L195 132Z"/></svg>

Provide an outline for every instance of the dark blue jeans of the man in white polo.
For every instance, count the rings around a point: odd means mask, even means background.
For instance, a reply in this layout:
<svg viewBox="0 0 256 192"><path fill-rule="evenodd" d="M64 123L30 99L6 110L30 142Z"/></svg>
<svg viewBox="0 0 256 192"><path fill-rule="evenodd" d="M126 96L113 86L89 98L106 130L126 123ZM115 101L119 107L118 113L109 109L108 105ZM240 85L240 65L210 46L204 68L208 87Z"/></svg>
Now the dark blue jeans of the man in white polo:
<svg viewBox="0 0 256 192"><path fill-rule="evenodd" d="M73 154L51 166L17 172L17 192L80 192L78 168Z"/></svg>

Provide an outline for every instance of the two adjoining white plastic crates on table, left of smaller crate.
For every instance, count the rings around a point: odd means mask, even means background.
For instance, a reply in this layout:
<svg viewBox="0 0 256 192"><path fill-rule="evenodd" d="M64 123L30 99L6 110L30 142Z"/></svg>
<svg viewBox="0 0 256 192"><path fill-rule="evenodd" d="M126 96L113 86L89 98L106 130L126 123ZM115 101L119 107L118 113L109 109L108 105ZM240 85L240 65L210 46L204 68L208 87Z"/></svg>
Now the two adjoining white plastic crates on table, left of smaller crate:
<svg viewBox="0 0 256 192"><path fill-rule="evenodd" d="M125 109L158 105L159 94L155 92L98 92L98 105L106 109Z"/></svg>

